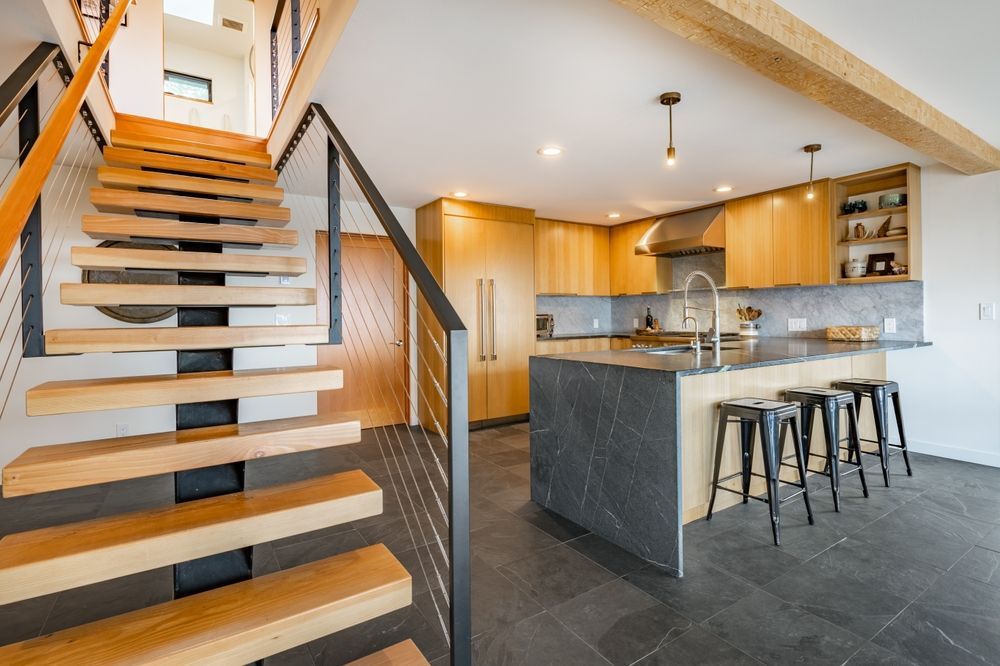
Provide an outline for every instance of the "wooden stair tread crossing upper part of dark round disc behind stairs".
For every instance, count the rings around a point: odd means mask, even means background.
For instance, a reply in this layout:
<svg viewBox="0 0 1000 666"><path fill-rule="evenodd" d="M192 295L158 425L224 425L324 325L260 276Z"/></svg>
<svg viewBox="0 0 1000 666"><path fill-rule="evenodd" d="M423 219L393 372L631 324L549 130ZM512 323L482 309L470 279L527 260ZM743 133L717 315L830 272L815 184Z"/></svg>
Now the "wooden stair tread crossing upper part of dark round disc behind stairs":
<svg viewBox="0 0 1000 666"><path fill-rule="evenodd" d="M70 255L74 266L88 270L145 269L255 275L302 275L306 272L304 257L276 257L263 254L74 247Z"/></svg>

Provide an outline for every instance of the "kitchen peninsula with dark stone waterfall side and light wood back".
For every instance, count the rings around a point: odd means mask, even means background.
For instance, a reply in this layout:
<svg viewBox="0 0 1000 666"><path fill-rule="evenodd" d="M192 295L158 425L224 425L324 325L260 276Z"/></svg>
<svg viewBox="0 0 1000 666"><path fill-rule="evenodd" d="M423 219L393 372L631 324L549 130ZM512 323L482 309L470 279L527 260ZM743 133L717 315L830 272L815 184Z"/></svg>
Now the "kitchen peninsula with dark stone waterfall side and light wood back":
<svg viewBox="0 0 1000 666"><path fill-rule="evenodd" d="M531 498L681 575L681 527L707 511L719 402L781 399L788 388L848 377L885 378L887 352L927 344L760 338L700 355L532 357ZM871 436L867 412L861 429ZM723 474L739 469L738 450L727 446ZM716 510L738 501L722 493Z"/></svg>

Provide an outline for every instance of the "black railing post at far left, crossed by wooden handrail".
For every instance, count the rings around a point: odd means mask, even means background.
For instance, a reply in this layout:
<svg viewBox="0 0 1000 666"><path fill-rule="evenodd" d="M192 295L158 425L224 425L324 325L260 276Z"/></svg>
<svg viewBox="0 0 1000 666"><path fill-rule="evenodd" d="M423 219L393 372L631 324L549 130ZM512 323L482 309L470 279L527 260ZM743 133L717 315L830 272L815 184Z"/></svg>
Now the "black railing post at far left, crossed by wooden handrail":
<svg viewBox="0 0 1000 666"><path fill-rule="evenodd" d="M38 83L28 90L17 106L19 162L24 164L41 131L38 115ZM42 322L42 198L35 201L21 231L21 344L23 356L45 356Z"/></svg>

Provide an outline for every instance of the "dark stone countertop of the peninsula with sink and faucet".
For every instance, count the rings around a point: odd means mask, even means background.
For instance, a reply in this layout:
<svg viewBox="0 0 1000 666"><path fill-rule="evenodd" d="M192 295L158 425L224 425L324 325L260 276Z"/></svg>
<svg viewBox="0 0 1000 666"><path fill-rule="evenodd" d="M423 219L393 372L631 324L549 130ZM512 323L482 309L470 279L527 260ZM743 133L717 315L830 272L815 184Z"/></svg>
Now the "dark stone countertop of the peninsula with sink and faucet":
<svg viewBox="0 0 1000 666"><path fill-rule="evenodd" d="M552 361L582 361L647 370L661 370L677 375L700 375L745 368L760 368L769 365L802 363L824 358L876 354L929 347L929 342L905 340L879 340L876 342L834 342L821 338L769 338L761 337L738 342L723 342L722 351L714 357L711 351L703 351L701 357L690 352L682 354L656 354L655 350L624 349L619 351L573 352L534 357Z"/></svg>

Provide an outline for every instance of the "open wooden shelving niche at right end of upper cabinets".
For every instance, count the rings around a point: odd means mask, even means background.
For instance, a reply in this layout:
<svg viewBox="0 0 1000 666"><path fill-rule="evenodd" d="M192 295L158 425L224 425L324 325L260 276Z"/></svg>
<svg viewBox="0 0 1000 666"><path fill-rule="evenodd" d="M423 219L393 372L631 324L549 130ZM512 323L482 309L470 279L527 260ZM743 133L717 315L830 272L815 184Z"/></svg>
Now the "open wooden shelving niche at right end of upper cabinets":
<svg viewBox="0 0 1000 666"><path fill-rule="evenodd" d="M833 224L830 225L834 254L833 280L837 284L871 284L875 282L905 282L921 279L920 257L920 167L900 164L874 171L845 176L833 181ZM884 194L905 194L906 205L896 208L879 208L879 197ZM864 199L868 210L863 213L841 214L841 205L848 201ZM854 239L854 227L860 222L867 232L878 229L886 217L891 217L890 229L905 228L900 236ZM870 254L895 253L895 261L906 264L904 275L869 275L848 278L844 275L851 259L867 261Z"/></svg>

